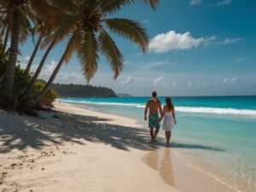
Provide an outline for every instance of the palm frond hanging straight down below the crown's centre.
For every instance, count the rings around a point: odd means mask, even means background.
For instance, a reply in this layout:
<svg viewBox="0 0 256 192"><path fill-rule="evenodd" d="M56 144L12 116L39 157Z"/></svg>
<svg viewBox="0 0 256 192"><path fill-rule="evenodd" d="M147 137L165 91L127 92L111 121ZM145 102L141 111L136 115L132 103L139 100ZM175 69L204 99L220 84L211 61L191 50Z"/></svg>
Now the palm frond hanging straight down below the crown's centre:
<svg viewBox="0 0 256 192"><path fill-rule="evenodd" d="M78 49L79 61L87 83L90 82L98 67L98 44L93 32L86 32Z"/></svg>

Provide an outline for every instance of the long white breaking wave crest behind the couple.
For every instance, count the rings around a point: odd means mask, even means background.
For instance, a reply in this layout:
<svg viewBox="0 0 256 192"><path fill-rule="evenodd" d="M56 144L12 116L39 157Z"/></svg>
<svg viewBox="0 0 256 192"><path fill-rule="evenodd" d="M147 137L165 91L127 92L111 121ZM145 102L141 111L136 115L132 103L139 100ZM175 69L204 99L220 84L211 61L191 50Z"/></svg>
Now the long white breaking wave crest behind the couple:
<svg viewBox="0 0 256 192"><path fill-rule="evenodd" d="M78 104L95 104L107 106L120 106L120 107L134 107L145 108L145 105L139 103L123 103L123 102L88 102L88 101L75 101L69 99L58 99L61 102L73 102ZM231 114L231 115L250 115L255 116L256 110L252 109L236 109L236 108L204 108L204 107L176 107L176 111L184 113L213 113L213 114Z"/></svg>

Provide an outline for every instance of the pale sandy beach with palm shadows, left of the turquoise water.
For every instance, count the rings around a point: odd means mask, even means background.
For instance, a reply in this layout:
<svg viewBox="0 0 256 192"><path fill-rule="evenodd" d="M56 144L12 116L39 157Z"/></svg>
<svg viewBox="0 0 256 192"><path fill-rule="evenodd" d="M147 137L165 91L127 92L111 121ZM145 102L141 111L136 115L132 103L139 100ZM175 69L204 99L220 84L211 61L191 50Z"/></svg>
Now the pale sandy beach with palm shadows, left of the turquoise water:
<svg viewBox="0 0 256 192"><path fill-rule="evenodd" d="M1 191L234 191L134 119L63 102L41 114L0 110Z"/></svg>

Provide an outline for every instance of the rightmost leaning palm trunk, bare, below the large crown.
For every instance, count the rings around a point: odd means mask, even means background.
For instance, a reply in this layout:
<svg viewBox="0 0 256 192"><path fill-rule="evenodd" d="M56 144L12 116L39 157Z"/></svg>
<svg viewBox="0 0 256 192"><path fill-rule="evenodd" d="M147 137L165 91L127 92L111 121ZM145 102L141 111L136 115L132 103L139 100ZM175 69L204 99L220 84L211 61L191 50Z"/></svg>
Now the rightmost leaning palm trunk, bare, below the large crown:
<svg viewBox="0 0 256 192"><path fill-rule="evenodd" d="M48 82L44 85L44 89L38 93L37 96L34 96L31 100L29 100L28 102L26 102L26 106L28 108L32 108L33 106L35 106L38 102L40 102L40 100L42 99L42 97L45 95L45 93L49 90L51 84L54 82L55 77L57 75L57 73L59 72L59 70L61 69L61 66L63 64L63 62L65 61L68 49L70 49L70 45L71 43L67 44L67 48L65 49L64 54L61 56L61 60L59 61L58 65L55 67L55 71L51 74Z"/></svg>

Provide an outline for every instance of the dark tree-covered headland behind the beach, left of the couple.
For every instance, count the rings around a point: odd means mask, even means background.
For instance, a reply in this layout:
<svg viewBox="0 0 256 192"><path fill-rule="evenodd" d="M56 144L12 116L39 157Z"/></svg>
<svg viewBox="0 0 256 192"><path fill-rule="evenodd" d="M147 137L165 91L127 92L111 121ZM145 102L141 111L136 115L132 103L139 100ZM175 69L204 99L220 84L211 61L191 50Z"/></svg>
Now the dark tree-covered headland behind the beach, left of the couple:
<svg viewBox="0 0 256 192"><path fill-rule="evenodd" d="M83 84L52 84L59 97L117 97L112 89Z"/></svg>

